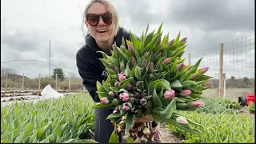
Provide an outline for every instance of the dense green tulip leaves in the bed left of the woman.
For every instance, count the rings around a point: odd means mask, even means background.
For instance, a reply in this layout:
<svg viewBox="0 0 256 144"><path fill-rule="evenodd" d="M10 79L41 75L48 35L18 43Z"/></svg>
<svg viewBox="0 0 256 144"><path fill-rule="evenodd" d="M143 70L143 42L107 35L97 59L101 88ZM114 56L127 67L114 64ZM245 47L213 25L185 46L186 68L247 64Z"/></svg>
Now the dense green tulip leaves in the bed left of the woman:
<svg viewBox="0 0 256 144"><path fill-rule="evenodd" d="M94 130L94 102L89 94L38 102L16 102L1 108L1 142L78 142Z"/></svg>

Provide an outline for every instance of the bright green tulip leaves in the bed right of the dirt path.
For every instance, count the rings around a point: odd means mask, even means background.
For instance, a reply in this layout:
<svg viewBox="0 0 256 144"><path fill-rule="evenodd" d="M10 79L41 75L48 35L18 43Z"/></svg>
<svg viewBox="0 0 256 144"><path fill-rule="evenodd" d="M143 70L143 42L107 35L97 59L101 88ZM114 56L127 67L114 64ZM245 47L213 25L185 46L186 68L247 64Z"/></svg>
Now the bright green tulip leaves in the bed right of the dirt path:
<svg viewBox="0 0 256 144"><path fill-rule="evenodd" d="M254 118L239 114L206 114L182 112L186 118L193 119L203 127L192 125L191 128L203 134L190 134L183 130L170 127L183 136L187 143L254 143Z"/></svg>

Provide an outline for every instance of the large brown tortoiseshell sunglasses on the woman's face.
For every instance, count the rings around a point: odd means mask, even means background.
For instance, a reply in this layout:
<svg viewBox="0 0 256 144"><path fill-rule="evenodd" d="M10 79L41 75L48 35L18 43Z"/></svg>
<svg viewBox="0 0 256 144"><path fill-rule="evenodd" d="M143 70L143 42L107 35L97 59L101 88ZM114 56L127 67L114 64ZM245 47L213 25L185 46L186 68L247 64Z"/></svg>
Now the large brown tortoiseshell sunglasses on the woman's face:
<svg viewBox="0 0 256 144"><path fill-rule="evenodd" d="M106 12L104 14L86 14L86 21L90 26L97 26L99 17L102 17L102 20L106 25L112 24L112 15L110 12Z"/></svg>

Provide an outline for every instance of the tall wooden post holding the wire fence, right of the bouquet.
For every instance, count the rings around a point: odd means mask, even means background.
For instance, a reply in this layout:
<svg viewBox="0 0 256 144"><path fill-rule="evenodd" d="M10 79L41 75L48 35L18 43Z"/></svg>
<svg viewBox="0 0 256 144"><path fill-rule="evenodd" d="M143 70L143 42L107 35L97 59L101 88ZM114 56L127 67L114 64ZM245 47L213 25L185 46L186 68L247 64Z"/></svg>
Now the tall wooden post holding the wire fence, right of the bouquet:
<svg viewBox="0 0 256 144"><path fill-rule="evenodd" d="M223 97L223 43L219 55L219 97Z"/></svg>

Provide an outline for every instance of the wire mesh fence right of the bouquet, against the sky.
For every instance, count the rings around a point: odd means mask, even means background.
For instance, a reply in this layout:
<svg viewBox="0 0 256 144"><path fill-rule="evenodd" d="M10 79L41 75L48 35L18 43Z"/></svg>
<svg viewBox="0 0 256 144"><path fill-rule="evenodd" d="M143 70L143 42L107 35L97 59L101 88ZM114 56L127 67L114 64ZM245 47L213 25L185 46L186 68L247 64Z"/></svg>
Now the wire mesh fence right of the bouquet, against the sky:
<svg viewBox="0 0 256 144"><path fill-rule="evenodd" d="M254 74L255 74L255 35L238 38L230 42L223 43L223 52L221 43L218 47L195 51L190 54L191 65L194 65L199 58L202 58L201 67L209 67L207 75L212 76L210 82L214 83L214 89L207 95L220 95L220 75L222 67L223 83L225 86L224 97L245 96L254 94ZM221 61L221 58L223 61ZM221 65L222 63L222 65ZM225 91L226 90L226 91ZM210 91L210 90L208 90Z"/></svg>

